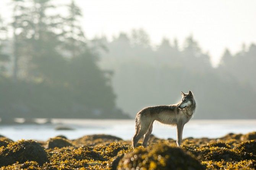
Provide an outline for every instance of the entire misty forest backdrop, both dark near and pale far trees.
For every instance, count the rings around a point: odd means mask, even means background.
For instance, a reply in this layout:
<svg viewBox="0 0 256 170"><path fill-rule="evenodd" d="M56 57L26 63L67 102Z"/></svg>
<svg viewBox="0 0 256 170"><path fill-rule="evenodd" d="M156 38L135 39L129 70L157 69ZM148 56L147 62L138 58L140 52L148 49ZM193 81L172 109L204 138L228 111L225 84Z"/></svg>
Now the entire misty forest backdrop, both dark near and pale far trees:
<svg viewBox="0 0 256 170"><path fill-rule="evenodd" d="M74 2L12 0L11 6L11 22L0 16L2 122L134 118L143 107L173 104L189 90L195 119L256 118L255 44L236 54L225 49L213 67L192 35L184 42L163 38L157 46L143 29L88 40Z"/></svg>

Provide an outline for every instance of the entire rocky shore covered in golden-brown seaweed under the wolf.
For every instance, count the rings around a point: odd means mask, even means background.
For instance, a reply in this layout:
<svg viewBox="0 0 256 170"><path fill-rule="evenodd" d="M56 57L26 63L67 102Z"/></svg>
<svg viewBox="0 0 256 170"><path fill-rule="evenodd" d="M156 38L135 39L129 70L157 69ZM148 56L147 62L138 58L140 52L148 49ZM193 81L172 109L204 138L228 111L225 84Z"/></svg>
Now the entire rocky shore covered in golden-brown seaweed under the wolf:
<svg viewBox="0 0 256 170"><path fill-rule="evenodd" d="M256 132L229 133L220 138L185 138L177 148L173 139L151 135L149 146L111 135L86 135L69 140L12 141L0 135L1 170L203 170L256 169Z"/></svg>

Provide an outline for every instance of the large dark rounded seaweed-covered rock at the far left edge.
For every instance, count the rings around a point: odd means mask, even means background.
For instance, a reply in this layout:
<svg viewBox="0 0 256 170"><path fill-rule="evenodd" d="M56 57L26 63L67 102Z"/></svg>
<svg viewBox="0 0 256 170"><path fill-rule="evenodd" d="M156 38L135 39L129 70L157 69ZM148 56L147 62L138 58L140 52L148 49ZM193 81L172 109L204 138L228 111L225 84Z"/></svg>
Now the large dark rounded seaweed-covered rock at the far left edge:
<svg viewBox="0 0 256 170"><path fill-rule="evenodd" d="M44 148L34 140L19 140L9 143L5 148L0 148L0 167L35 161L39 165L47 162L47 153Z"/></svg>

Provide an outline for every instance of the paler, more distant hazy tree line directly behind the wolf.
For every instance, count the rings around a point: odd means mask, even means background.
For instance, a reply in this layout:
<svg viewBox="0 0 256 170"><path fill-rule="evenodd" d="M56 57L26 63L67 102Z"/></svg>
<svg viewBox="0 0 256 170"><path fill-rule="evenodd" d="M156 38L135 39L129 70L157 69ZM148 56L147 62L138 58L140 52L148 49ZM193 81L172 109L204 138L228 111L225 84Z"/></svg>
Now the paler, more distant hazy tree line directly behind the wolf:
<svg viewBox="0 0 256 170"><path fill-rule="evenodd" d="M226 49L218 67L193 36L184 43L163 38L152 48L143 29L120 33L102 52L100 66L112 69L118 106L134 116L141 108L169 105L180 91L192 90L198 103L195 118L256 118L256 46L242 45L236 54Z"/></svg>

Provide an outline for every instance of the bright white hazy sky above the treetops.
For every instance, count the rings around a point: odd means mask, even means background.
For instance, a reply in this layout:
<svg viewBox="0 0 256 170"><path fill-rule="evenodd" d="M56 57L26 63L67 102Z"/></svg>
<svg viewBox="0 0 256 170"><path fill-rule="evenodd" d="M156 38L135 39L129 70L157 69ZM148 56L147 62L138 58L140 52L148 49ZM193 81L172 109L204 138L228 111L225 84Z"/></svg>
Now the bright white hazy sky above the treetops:
<svg viewBox="0 0 256 170"><path fill-rule="evenodd" d="M0 0L0 14L10 17L11 0ZM54 0L53 0L54 1ZM70 0L55 0L58 3ZM163 37L177 38L182 47L193 35L203 51L217 63L225 48L232 53L241 44L256 43L255 0L76 0L84 18L86 36L106 35L143 28L152 45Z"/></svg>

